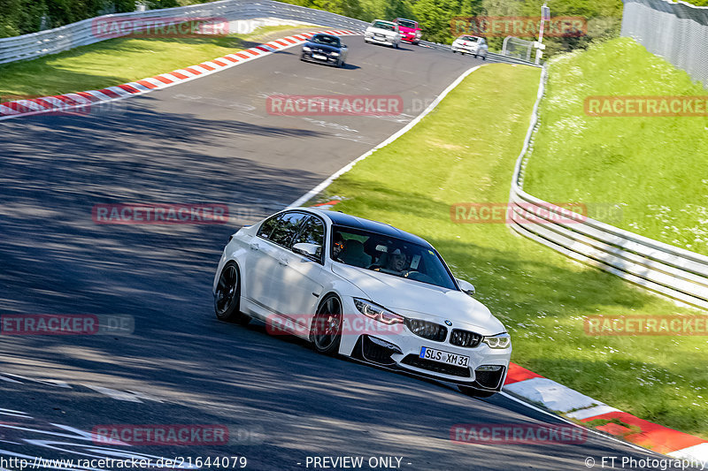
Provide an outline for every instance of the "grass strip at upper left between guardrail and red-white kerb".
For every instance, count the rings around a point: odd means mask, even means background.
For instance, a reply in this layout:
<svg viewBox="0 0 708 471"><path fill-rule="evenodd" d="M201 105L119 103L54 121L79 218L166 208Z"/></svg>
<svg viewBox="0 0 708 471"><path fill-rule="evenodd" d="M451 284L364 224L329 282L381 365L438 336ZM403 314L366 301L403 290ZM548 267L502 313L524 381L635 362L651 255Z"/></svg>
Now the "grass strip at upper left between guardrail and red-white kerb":
<svg viewBox="0 0 708 471"><path fill-rule="evenodd" d="M212 38L119 38L31 61L0 65L0 102L27 95L96 90L141 80L248 49L250 42L257 42L266 34L293 28L296 27L261 27L252 34Z"/></svg>

